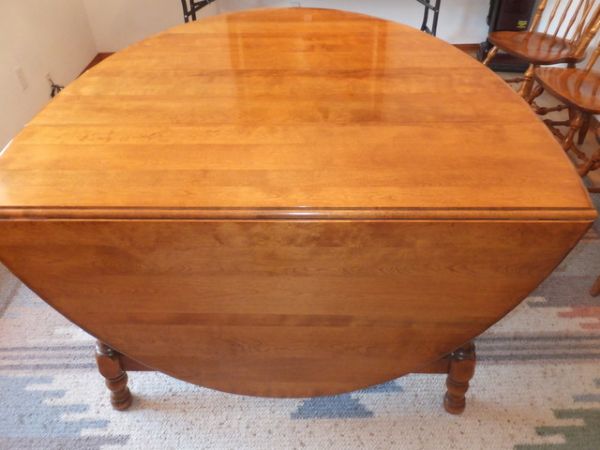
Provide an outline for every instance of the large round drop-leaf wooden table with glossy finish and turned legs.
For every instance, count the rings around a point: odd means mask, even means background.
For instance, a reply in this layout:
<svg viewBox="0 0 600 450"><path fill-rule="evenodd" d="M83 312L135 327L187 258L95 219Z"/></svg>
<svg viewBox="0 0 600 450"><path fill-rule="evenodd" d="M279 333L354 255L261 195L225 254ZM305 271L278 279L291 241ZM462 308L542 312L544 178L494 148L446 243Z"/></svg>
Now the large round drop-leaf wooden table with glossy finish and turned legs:
<svg viewBox="0 0 600 450"><path fill-rule="evenodd" d="M128 370L271 397L423 372L461 412L473 339L595 217L498 76L326 9L138 42L0 156L0 260L99 340L118 409Z"/></svg>

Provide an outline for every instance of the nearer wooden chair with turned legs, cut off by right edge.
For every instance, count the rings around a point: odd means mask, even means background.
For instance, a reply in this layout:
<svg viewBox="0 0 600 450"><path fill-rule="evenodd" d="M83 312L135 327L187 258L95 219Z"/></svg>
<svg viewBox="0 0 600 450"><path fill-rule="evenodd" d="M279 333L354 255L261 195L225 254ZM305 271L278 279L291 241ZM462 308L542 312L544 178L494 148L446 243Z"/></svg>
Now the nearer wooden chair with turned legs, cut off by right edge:
<svg viewBox="0 0 600 450"><path fill-rule="evenodd" d="M583 161L577 168L581 176L600 167L600 151L589 158L575 143L575 135L585 125L584 117L600 114L600 72L593 70L599 58L600 46L595 49L584 69L540 67L533 73L533 78L539 85L536 94L545 90L564 103L558 107L540 108L533 102L534 110L540 115L545 115L548 112L569 109L569 120L546 119L544 122L559 138L563 149L566 152L573 151ZM563 134L558 126L568 126L569 130Z"/></svg>

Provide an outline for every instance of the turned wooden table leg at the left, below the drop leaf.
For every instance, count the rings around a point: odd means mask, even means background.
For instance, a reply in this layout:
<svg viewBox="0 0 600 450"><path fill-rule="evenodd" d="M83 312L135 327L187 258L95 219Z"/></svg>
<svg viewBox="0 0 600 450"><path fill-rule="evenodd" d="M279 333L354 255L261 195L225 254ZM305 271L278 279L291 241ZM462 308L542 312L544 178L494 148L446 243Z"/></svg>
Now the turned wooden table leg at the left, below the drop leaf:
<svg viewBox="0 0 600 450"><path fill-rule="evenodd" d="M127 387L127 372L121 367L119 353L103 342L96 342L96 362L98 371L106 379L110 389L110 402L120 411L131 405L131 392Z"/></svg>

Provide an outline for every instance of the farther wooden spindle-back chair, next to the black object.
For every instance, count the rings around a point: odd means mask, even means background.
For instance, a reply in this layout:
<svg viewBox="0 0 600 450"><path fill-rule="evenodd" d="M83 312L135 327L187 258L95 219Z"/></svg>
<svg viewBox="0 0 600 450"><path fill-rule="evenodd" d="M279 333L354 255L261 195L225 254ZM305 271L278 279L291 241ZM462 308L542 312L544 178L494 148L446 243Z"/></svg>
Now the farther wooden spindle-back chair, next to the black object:
<svg viewBox="0 0 600 450"><path fill-rule="evenodd" d="M528 31L490 33L493 44L483 64L488 65L499 50L527 61L530 66L519 93L530 100L536 67L566 63L573 67L585 58L590 42L600 27L599 0L555 0L544 14L548 0L541 0ZM542 24L545 26L542 27Z"/></svg>

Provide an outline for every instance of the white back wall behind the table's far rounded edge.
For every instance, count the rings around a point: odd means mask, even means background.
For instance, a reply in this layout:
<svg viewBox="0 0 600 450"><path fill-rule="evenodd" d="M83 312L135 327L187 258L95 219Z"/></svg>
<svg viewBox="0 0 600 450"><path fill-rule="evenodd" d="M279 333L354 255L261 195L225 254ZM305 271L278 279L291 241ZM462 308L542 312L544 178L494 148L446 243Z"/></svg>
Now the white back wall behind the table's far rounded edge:
<svg viewBox="0 0 600 450"><path fill-rule="evenodd" d="M100 52L114 52L183 22L180 0L83 0ZM452 43L475 43L487 35L487 0L445 0L438 36ZM216 0L200 15L248 8L305 6L345 9L421 25L423 7L415 0Z"/></svg>

